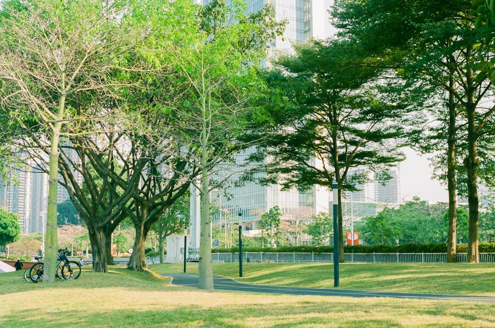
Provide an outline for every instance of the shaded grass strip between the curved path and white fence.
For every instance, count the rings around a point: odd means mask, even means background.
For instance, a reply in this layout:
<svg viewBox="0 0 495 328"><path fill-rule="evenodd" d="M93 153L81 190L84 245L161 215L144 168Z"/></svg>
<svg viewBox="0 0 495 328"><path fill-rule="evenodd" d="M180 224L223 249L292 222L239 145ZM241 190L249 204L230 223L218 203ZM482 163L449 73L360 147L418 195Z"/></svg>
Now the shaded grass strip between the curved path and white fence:
<svg viewBox="0 0 495 328"><path fill-rule="evenodd" d="M495 296L493 263L342 263L339 267L342 289ZM181 263L151 268L157 273L184 272ZM197 273L198 265L188 263L186 269ZM215 264L213 273L257 284L334 288L333 264L244 263L239 278L239 265L225 263Z"/></svg>

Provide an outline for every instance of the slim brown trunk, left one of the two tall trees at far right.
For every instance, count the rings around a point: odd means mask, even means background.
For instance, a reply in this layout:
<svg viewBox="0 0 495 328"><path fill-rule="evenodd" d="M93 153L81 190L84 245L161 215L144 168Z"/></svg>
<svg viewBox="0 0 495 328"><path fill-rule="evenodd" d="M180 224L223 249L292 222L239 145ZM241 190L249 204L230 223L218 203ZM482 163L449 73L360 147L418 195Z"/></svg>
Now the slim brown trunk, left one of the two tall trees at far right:
<svg viewBox="0 0 495 328"><path fill-rule="evenodd" d="M450 85L453 85L452 78ZM448 141L447 141L447 189L448 189L448 236L447 236L447 263L457 262L457 181L455 144L457 141L455 100L449 92L448 101Z"/></svg>

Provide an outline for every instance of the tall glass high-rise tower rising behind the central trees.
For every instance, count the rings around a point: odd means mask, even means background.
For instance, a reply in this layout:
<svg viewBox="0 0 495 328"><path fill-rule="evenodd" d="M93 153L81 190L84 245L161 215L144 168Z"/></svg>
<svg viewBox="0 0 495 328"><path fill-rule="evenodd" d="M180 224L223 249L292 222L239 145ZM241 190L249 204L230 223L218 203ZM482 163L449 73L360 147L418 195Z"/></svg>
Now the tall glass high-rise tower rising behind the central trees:
<svg viewBox="0 0 495 328"><path fill-rule="evenodd" d="M269 42L268 60L279 53L293 52L293 44L305 43L311 38L326 39L333 33L328 14L331 0L247 0L247 12L259 10L267 2L274 5L277 20L288 21L284 35ZM213 217L217 222L227 212L232 220L237 220L239 211L244 222L253 222L274 206L279 206L283 218L298 215L296 213L301 208L311 213L329 209L329 190L321 186L299 192L296 189L282 191L281 186L276 184L261 186L248 183L242 187L227 188L224 195L219 197L222 197L220 207L223 213Z"/></svg>

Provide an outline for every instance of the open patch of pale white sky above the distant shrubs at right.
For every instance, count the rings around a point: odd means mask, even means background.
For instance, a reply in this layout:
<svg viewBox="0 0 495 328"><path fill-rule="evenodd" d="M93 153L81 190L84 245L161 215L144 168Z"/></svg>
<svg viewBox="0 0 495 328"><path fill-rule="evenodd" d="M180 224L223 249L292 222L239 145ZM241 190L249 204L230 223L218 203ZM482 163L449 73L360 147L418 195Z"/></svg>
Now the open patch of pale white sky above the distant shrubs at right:
<svg viewBox="0 0 495 328"><path fill-rule="evenodd" d="M432 169L428 155L417 154L405 148L406 160L400 163L400 194L403 200L412 200L418 196L421 200L447 201L446 186L439 181L431 180Z"/></svg>

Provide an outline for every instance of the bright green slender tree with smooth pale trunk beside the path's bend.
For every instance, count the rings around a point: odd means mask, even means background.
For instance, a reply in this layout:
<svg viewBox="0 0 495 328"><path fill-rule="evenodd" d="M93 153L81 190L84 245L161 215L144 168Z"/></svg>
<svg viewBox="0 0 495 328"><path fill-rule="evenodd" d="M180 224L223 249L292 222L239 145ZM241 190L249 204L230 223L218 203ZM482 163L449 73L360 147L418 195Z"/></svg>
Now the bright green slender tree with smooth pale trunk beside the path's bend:
<svg viewBox="0 0 495 328"><path fill-rule="evenodd" d="M265 89L257 65L268 40L281 27L270 7L252 14L245 10L241 1L208 1L198 7L195 22L182 23L187 38L183 34L163 45L179 75L175 88L185 95L182 103L170 108L177 118L174 140L194 150L188 165L200 171L200 178L191 183L201 195L201 289L213 289L209 192L235 174L232 155L258 142L240 139L254 128L261 104L253 104Z"/></svg>

